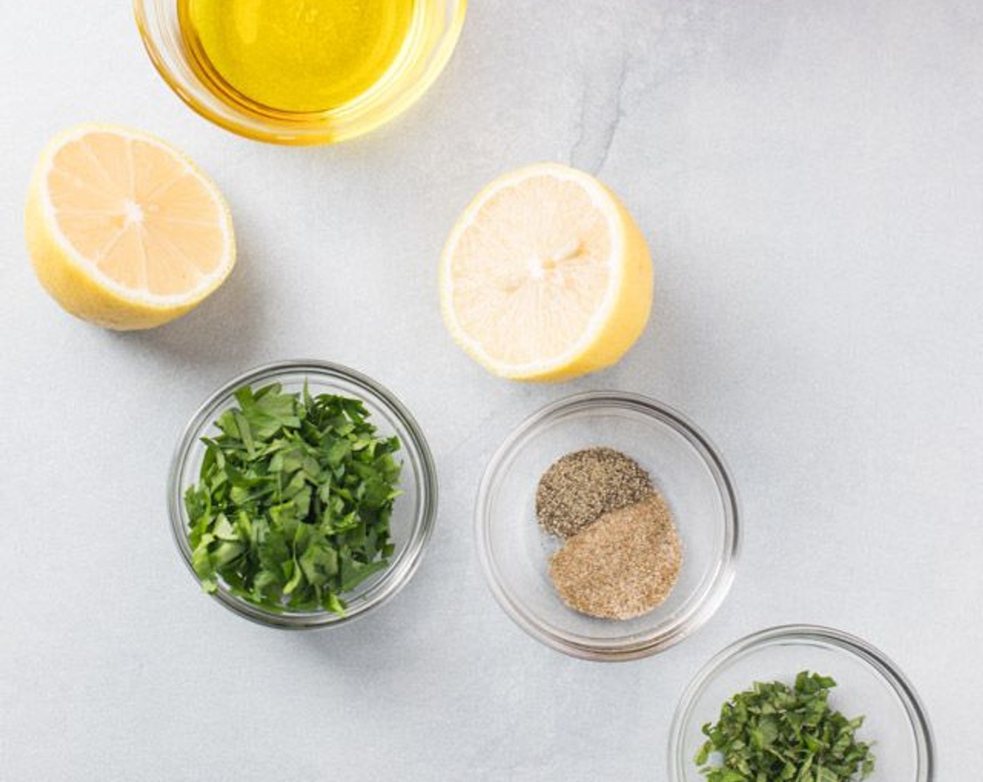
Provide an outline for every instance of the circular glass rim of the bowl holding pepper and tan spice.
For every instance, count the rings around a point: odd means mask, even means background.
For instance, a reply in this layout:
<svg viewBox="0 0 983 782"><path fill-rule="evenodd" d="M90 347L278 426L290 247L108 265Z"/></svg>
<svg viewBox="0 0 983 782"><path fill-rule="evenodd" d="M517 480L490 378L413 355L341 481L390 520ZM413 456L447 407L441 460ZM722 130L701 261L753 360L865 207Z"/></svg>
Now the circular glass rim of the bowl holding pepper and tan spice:
<svg viewBox="0 0 983 782"><path fill-rule="evenodd" d="M492 521L487 512L492 488L497 482L503 463L517 446L546 422L577 408L592 408L613 404L629 407L641 412L659 423L668 426L681 435L703 458L709 468L723 501L724 544L723 553L703 599L696 603L678 621L661 632L650 632L632 636L631 639L606 640L604 642L583 642L550 632L526 611L521 602L510 595L502 586L502 578L492 558ZM478 557L485 580L492 596L508 617L523 631L550 648L595 661L634 660L663 651L699 630L723 604L734 578L735 565L740 551L741 511L737 492L720 451L706 434L692 421L674 408L640 393L630 391L581 391L556 399L528 416L513 429L501 445L493 452L482 476L475 504L475 536L478 542Z"/></svg>

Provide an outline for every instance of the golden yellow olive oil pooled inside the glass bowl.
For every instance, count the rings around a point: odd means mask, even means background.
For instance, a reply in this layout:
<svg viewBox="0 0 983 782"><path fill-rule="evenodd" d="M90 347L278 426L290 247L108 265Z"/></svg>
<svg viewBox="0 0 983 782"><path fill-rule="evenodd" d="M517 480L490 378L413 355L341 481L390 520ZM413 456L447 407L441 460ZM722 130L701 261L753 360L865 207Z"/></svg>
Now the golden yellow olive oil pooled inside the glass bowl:
<svg viewBox="0 0 983 782"><path fill-rule="evenodd" d="M350 103L396 67L418 0L177 2L209 90L260 112L308 113Z"/></svg>

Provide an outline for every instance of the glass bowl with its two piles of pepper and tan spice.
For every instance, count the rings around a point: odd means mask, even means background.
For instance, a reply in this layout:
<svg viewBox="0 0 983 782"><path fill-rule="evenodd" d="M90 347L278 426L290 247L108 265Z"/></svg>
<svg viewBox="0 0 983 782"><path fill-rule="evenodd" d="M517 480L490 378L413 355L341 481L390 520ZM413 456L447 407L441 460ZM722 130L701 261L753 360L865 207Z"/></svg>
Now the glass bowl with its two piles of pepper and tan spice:
<svg viewBox="0 0 983 782"><path fill-rule="evenodd" d="M720 454L682 415L590 391L549 404L495 452L476 534L492 594L520 628L576 657L625 660L721 605L738 509Z"/></svg>

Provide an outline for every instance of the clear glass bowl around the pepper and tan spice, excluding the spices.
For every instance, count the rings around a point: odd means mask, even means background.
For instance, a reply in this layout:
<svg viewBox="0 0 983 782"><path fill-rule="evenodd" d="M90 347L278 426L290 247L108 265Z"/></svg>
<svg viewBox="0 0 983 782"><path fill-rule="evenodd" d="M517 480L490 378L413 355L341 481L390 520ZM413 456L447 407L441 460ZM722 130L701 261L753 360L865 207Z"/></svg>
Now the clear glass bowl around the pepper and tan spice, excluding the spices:
<svg viewBox="0 0 983 782"><path fill-rule="evenodd" d="M668 599L631 620L594 619L563 603L548 573L561 542L536 520L540 476L565 453L595 446L622 451L648 470L682 543ZM733 579L737 519L723 461L696 427L645 396L593 391L535 413L492 456L478 493L478 554L492 594L524 631L575 657L633 659L686 637L721 605Z"/></svg>

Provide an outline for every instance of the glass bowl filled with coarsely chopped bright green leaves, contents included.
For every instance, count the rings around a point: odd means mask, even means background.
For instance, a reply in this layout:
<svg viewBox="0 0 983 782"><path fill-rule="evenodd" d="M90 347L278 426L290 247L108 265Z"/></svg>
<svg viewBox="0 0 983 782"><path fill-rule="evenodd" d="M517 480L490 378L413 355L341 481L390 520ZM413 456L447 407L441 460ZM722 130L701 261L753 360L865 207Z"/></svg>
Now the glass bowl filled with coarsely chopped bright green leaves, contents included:
<svg viewBox="0 0 983 782"><path fill-rule="evenodd" d="M202 404L175 451L168 506L202 591L263 625L332 627L416 571L436 475L390 391L337 364L285 361Z"/></svg>

